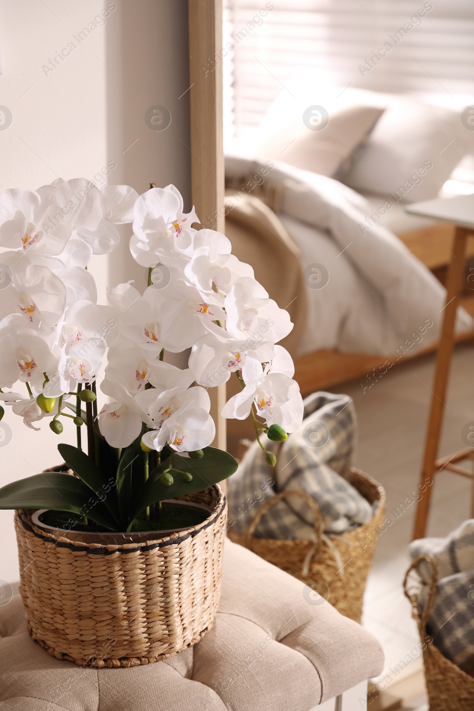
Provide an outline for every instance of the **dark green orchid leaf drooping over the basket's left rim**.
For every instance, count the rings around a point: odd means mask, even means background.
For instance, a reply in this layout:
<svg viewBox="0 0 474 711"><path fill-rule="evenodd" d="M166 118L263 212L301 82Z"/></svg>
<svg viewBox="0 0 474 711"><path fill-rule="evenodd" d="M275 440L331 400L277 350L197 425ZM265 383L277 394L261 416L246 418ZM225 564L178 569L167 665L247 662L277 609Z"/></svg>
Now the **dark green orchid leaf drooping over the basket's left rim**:
<svg viewBox="0 0 474 711"><path fill-rule="evenodd" d="M117 522L89 486L70 474L45 471L0 488L0 508L50 508L92 518L110 530Z"/></svg>

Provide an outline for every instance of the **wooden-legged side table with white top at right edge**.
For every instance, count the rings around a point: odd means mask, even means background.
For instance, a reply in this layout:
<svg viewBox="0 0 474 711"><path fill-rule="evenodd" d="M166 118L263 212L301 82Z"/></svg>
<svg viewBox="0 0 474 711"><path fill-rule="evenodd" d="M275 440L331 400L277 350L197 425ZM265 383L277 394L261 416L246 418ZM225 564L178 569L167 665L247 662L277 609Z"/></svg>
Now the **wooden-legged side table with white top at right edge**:
<svg viewBox="0 0 474 711"><path fill-rule="evenodd" d="M429 415L428 432L424 451L423 469L420 486L426 486L416 509L414 538L423 538L426 533L426 522L429 515L433 476L441 469L448 469L454 474L474 479L472 471L463 469L458 462L474 458L474 448L465 447L443 459L437 459L438 444L443 422L443 409L448 385L449 366L453 353L454 324L456 309L459 305L461 286L463 283L463 267L466 241L474 234L474 195L460 196L446 200L429 200L424 203L409 205L406 211L412 215L435 218L456 226L453 242L453 252L448 268L446 284L446 304L443 306L443 328L436 358L436 373L433 383L433 397ZM474 444L474 443L473 443ZM471 501L471 515L474 518L474 486Z"/></svg>

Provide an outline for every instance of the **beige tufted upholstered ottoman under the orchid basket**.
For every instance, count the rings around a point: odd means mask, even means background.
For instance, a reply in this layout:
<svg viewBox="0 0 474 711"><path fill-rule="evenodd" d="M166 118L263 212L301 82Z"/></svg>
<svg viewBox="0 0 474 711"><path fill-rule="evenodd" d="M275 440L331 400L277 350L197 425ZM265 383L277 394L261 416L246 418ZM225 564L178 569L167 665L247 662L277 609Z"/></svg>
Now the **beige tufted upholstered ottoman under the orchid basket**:
<svg viewBox="0 0 474 711"><path fill-rule="evenodd" d="M0 606L0 710L309 711L383 665L369 632L313 597L227 540L220 609L200 643L166 661L96 669L33 642L15 596Z"/></svg>

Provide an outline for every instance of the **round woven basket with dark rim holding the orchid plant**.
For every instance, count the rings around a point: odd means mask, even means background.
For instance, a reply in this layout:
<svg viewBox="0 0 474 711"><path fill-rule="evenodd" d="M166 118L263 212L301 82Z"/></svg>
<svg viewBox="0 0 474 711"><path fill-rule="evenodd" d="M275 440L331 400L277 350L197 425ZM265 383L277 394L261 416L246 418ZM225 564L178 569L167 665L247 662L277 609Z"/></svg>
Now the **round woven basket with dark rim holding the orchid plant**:
<svg viewBox="0 0 474 711"><path fill-rule="evenodd" d="M16 511L32 638L58 659L96 667L148 664L202 639L219 605L227 503L217 485L179 498L212 513L167 538L122 545L50 535L31 511Z"/></svg>

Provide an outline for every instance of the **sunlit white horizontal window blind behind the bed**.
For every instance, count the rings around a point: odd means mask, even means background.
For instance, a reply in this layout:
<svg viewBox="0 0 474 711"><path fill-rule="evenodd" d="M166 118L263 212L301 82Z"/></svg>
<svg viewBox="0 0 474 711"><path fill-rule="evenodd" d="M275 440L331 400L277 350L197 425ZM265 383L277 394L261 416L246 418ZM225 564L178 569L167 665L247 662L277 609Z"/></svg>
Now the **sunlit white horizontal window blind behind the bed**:
<svg viewBox="0 0 474 711"><path fill-rule="evenodd" d="M257 126L307 73L340 87L474 95L473 0L224 0L223 43L227 135Z"/></svg>

